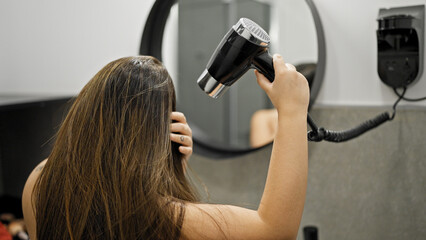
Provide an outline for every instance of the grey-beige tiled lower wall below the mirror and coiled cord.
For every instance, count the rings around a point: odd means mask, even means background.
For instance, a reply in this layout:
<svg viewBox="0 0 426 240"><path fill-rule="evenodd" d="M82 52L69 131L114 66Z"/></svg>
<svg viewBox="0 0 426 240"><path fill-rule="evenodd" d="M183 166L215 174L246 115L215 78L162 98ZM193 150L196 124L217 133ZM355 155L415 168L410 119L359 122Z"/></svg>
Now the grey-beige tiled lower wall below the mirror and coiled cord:
<svg viewBox="0 0 426 240"><path fill-rule="evenodd" d="M318 125L341 130L386 110L390 107L318 107L312 117ZM317 226L320 239L424 239L425 123L426 109L405 107L394 121L352 141L310 143L301 228ZM190 165L208 188L208 201L256 209L270 152L267 146L219 161L194 154Z"/></svg>

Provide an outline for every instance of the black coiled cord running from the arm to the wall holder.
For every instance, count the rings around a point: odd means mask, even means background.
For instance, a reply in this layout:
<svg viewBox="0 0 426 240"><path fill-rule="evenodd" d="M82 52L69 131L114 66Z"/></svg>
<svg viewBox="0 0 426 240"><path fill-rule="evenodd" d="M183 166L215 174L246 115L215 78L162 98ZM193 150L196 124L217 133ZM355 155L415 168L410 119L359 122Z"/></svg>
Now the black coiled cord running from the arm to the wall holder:
<svg viewBox="0 0 426 240"><path fill-rule="evenodd" d="M360 125L345 131L330 131L322 127L318 128L308 114L308 124L312 129L308 132L308 140L314 142L320 142L322 140L329 142L344 142L356 138L359 135L380 126L386 121L392 121L395 118L396 106L401 101L401 99L404 99L406 90L407 88L404 87L403 92L398 94L399 97L392 106L392 115L389 115L388 112L383 112L377 115L375 118L367 120Z"/></svg>

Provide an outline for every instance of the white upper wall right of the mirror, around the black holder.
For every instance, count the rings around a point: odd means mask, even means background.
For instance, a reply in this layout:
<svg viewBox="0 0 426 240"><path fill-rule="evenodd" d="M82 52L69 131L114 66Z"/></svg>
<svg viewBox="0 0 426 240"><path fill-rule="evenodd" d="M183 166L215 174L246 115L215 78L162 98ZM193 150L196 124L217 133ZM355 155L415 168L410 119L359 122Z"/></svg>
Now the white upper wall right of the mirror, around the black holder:
<svg viewBox="0 0 426 240"><path fill-rule="evenodd" d="M325 31L327 68L317 99L325 105L391 105L397 99L377 74L376 18L380 8L425 0L314 0ZM424 68L426 64L424 64ZM407 97L426 96L426 71ZM402 104L406 104L402 102ZM426 106L426 101L408 103Z"/></svg>

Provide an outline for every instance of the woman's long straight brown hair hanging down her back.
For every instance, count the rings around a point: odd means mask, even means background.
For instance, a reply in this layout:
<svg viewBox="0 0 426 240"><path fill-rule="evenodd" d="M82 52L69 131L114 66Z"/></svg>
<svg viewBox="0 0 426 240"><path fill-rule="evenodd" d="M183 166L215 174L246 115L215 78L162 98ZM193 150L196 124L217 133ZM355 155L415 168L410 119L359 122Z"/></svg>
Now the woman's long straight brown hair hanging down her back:
<svg viewBox="0 0 426 240"><path fill-rule="evenodd" d="M176 98L153 57L99 71L75 99L34 189L37 239L178 239L196 201L170 140Z"/></svg>

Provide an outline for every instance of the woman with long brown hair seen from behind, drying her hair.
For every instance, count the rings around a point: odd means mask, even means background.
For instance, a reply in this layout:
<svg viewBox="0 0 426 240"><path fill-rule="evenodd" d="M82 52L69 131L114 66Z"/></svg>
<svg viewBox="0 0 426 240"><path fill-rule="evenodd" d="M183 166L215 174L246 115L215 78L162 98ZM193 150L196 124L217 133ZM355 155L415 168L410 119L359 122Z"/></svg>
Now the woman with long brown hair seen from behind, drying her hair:
<svg viewBox="0 0 426 240"><path fill-rule="evenodd" d="M295 239L306 191L309 88L280 56L274 66L273 83L256 72L279 118L257 211L197 202L185 178L191 131L173 112L170 76L155 58L130 57L83 88L49 159L27 180L31 239Z"/></svg>

